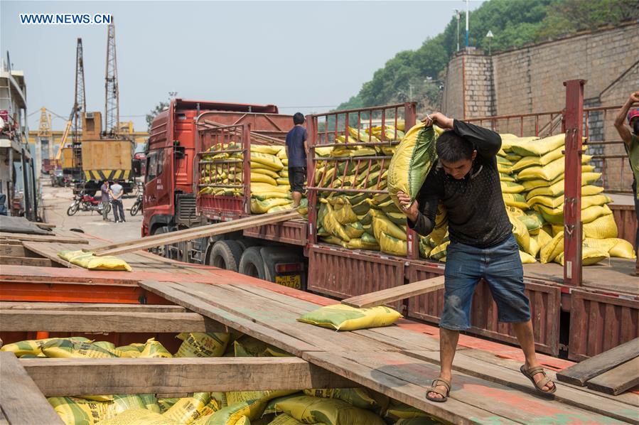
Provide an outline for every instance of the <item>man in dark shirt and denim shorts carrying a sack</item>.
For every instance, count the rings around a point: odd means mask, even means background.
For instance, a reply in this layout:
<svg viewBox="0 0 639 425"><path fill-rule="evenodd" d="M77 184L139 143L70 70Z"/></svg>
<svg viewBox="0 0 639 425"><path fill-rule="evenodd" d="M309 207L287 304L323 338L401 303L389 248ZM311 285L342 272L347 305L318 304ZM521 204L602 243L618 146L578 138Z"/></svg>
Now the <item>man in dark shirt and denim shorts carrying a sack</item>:
<svg viewBox="0 0 639 425"><path fill-rule="evenodd" d="M494 131L439 112L423 121L426 127L437 124L446 130L436 142L439 159L414 202L401 192L397 198L409 227L420 235L433 230L440 202L448 214L451 242L446 249L444 313L439 321L441 371L426 398L448 399L459 331L471 328L471 302L480 279L490 287L499 321L512 323L526 358L520 371L537 391L554 393L557 387L535 355L519 247L502 197L496 158L501 138Z"/></svg>

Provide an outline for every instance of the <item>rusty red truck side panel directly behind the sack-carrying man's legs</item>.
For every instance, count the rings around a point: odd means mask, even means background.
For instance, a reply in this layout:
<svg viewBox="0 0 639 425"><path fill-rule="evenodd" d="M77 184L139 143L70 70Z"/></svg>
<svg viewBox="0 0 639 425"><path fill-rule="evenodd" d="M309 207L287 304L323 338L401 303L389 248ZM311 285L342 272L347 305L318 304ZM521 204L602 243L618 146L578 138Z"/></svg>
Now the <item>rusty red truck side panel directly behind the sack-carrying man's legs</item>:
<svg viewBox="0 0 639 425"><path fill-rule="evenodd" d="M441 264L411 262L408 266L410 282L429 279L444 273ZM530 315L535 330L535 348L550 355L559 354L559 314L561 289L557 286L526 283L526 295L530 299ZM444 309L444 289L409 298L408 316L431 323L439 323ZM490 289L480 282L471 307L471 330L469 333L483 335L505 343L517 343L512 327L499 323L497 304L493 301Z"/></svg>

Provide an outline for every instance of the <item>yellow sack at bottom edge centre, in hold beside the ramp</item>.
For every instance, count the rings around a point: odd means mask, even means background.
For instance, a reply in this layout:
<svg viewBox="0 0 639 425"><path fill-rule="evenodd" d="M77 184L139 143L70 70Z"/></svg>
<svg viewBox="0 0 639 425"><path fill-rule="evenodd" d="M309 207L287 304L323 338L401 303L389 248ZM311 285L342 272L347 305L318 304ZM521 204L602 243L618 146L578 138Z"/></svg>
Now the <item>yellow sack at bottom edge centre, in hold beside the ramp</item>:
<svg viewBox="0 0 639 425"><path fill-rule="evenodd" d="M276 403L275 408L305 424L321 422L326 425L385 425L380 416L339 399L318 399L303 395L283 399Z"/></svg>

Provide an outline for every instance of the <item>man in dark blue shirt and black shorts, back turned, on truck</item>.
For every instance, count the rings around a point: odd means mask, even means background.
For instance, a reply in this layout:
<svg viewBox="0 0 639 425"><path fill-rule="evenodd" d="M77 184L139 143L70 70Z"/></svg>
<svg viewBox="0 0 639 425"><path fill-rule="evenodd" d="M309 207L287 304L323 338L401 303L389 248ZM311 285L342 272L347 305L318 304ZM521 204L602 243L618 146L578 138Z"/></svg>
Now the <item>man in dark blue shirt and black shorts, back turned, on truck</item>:
<svg viewBox="0 0 639 425"><path fill-rule="evenodd" d="M293 208L299 207L306 183L306 152L308 134L304 128L304 114L297 112L293 116L295 127L286 134L286 158L289 158L289 184L293 193Z"/></svg>

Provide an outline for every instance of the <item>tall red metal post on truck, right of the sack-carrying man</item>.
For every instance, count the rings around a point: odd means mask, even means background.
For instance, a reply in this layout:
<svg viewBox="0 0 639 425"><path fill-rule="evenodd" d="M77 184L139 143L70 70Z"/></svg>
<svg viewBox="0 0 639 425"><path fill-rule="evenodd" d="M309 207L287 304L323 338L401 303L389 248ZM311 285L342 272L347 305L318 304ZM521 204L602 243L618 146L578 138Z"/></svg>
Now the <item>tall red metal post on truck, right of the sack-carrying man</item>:
<svg viewBox="0 0 639 425"><path fill-rule="evenodd" d="M581 135L586 80L564 81L566 132L564 177L564 283L581 286Z"/></svg>

